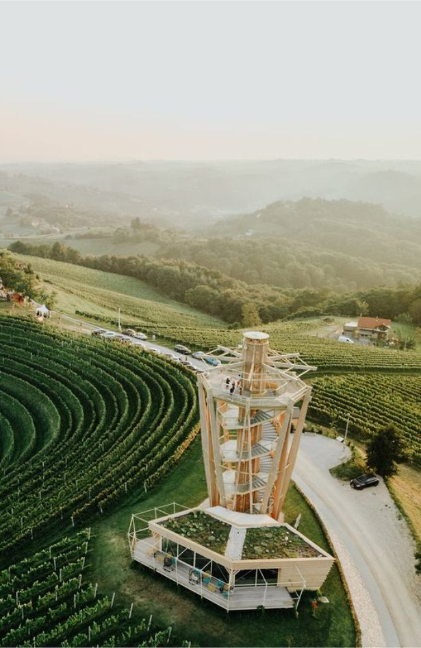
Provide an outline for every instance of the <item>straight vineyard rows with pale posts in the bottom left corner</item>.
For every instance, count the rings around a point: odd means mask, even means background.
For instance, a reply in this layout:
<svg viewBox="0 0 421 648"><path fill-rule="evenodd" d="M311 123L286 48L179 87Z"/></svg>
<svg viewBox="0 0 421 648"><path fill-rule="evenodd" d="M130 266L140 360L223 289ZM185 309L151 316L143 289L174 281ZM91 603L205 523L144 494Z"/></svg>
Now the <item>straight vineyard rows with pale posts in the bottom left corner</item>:
<svg viewBox="0 0 421 648"><path fill-rule="evenodd" d="M134 621L86 581L89 541L80 531L0 572L0 646L180 645L170 627Z"/></svg>

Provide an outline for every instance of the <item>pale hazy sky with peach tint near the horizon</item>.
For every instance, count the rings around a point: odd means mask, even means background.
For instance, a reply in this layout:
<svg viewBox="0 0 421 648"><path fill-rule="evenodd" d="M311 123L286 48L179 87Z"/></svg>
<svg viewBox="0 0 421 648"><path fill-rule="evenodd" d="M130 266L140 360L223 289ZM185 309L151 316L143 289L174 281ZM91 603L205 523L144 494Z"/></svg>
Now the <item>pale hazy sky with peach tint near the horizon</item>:
<svg viewBox="0 0 421 648"><path fill-rule="evenodd" d="M0 159L421 158L419 2L0 2Z"/></svg>

